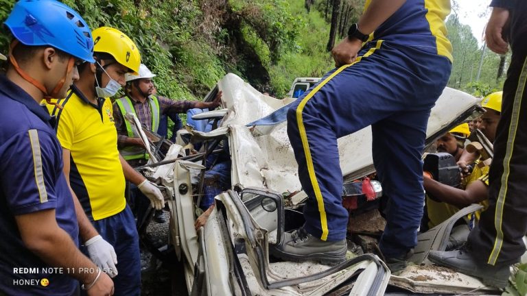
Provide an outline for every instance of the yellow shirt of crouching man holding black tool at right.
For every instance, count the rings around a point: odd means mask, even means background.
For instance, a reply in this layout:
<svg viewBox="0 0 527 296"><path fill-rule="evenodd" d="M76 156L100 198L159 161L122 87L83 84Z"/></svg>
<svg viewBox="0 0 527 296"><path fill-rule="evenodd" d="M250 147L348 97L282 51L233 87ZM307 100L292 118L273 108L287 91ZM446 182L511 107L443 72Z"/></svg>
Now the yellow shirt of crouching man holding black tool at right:
<svg viewBox="0 0 527 296"><path fill-rule="evenodd" d="M489 186L489 167L478 167L476 166L472 173L467 177L467 185L475 182L477 180L480 180L484 182L484 184L487 184ZM465 189L466 187L462 188ZM476 220L480 219L480 213L487 209L489 206L489 201L484 200L481 201L480 204L483 206L482 210L478 210L475 212L476 214ZM426 197L426 208L428 213L428 227L432 228L436 225L439 225L443 223L443 221L446 221L450 217L452 217L456 212L459 211L459 208L456 206L452 206L451 204L447 204L444 202L438 202L432 200L430 197ZM469 214L468 219L472 219L472 214Z"/></svg>

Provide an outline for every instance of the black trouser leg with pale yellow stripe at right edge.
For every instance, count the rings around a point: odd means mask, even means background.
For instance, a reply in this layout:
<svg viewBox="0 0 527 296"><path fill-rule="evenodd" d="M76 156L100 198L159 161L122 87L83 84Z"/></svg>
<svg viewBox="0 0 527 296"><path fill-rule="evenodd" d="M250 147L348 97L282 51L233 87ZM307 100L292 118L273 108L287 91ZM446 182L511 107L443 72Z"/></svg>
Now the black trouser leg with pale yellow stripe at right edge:
<svg viewBox="0 0 527 296"><path fill-rule="evenodd" d="M527 233L527 42L515 45L489 173L489 208L469 236L473 252L492 265L517 262L526 250L522 237Z"/></svg>

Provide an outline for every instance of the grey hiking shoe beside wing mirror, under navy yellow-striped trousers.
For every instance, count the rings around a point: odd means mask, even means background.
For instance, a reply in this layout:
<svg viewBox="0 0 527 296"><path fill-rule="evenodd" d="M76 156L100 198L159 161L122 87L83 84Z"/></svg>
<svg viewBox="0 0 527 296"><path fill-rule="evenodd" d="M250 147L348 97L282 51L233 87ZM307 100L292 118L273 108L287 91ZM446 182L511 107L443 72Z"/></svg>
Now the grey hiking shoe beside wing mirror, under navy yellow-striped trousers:
<svg viewBox="0 0 527 296"><path fill-rule="evenodd" d="M308 234L303 227L285 232L281 243L272 245L272 255L287 261L315 260L322 264L335 265L346 260L346 239L324 241Z"/></svg>

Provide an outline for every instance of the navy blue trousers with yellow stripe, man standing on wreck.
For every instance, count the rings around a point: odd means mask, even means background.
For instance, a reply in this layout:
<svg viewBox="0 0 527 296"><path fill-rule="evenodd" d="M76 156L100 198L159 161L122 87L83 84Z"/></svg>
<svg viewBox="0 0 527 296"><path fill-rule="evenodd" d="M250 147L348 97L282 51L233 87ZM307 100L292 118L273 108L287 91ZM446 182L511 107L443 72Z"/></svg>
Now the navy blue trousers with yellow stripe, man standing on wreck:
<svg viewBox="0 0 527 296"><path fill-rule="evenodd" d="M368 42L357 61L333 69L292 103L288 136L309 196L304 208L309 234L329 241L346 237L337 138L371 125L373 162L390 198L381 250L400 256L417 244L426 126L451 67L446 57L418 47Z"/></svg>

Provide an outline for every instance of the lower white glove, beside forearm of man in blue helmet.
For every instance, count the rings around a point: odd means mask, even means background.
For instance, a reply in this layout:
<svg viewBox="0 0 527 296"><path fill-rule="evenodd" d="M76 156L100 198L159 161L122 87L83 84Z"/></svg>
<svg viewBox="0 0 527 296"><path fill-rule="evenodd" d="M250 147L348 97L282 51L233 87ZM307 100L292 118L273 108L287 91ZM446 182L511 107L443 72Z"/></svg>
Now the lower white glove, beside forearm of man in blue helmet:
<svg viewBox="0 0 527 296"><path fill-rule="evenodd" d="M117 275L117 254L112 245L110 245L102 236L97 235L93 236L84 243L86 249L88 249L88 254L90 254L90 259L105 273L110 277L115 277Z"/></svg>

